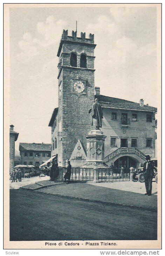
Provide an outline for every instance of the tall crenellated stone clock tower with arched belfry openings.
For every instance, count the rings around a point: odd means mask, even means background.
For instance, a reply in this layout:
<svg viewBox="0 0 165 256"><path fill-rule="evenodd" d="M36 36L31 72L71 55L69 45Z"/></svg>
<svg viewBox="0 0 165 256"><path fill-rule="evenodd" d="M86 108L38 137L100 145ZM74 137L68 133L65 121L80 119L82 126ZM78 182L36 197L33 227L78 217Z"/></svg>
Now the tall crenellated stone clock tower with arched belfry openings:
<svg viewBox="0 0 165 256"><path fill-rule="evenodd" d="M77 37L77 31L72 31L69 36L68 30L63 30L57 53L59 159L63 166L66 159L70 159L78 140L87 154L85 136L91 129L89 109L94 102L95 47L94 34L86 38L81 32L81 37Z"/></svg>

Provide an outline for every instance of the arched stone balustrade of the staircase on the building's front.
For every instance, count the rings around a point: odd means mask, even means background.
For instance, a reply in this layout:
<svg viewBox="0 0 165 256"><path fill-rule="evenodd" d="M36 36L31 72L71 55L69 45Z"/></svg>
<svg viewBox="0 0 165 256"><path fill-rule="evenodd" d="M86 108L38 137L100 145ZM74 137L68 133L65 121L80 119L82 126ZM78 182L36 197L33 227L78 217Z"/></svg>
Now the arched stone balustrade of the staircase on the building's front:
<svg viewBox="0 0 165 256"><path fill-rule="evenodd" d="M136 154L141 159L145 160L145 154L137 148L118 148L115 151L113 151L112 153L110 153L109 155L105 156L104 160L105 160L105 162L108 162L120 154Z"/></svg>

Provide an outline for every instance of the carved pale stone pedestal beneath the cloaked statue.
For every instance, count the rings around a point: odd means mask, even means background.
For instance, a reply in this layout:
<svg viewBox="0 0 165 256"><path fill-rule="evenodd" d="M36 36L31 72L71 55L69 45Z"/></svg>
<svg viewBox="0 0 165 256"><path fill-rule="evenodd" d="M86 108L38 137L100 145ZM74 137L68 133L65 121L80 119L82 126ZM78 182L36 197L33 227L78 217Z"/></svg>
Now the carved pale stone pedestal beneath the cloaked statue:
<svg viewBox="0 0 165 256"><path fill-rule="evenodd" d="M106 136L99 129L90 130L87 138L87 160L84 168L104 168L104 142Z"/></svg>

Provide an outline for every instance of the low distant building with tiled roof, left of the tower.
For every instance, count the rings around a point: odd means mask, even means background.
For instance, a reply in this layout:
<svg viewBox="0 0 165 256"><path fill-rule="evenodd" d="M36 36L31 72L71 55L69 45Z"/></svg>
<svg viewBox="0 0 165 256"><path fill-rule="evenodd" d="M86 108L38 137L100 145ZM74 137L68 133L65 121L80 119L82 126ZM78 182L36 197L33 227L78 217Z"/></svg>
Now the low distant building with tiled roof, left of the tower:
<svg viewBox="0 0 165 256"><path fill-rule="evenodd" d="M51 144L20 143L21 164L33 165L37 168L51 157Z"/></svg>

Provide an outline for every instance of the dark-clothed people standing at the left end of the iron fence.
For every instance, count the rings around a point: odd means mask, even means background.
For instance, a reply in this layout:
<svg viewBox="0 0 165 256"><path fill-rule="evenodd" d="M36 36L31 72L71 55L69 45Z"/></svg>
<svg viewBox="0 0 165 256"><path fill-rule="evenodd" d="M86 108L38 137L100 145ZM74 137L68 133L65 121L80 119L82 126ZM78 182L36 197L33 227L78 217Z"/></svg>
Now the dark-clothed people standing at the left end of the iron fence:
<svg viewBox="0 0 165 256"><path fill-rule="evenodd" d="M64 175L64 182L68 180L68 183L70 182L70 176L71 176L71 164L70 161L67 161L66 167L67 169L66 174ZM58 167L58 162L56 159L53 160L52 166L50 169L50 181L57 181L57 178L59 176L59 167Z"/></svg>

